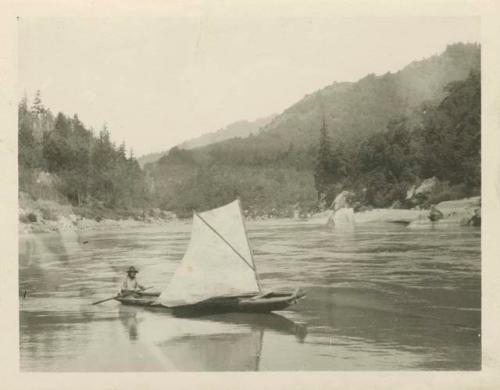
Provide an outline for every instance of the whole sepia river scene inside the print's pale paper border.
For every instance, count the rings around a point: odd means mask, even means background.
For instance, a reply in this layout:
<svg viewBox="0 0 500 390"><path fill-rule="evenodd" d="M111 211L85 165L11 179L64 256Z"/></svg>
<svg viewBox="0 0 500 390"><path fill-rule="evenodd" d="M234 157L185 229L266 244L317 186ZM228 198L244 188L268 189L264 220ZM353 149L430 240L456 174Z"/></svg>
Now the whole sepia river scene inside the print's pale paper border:
<svg viewBox="0 0 500 390"><path fill-rule="evenodd" d="M16 28L21 372L481 371L479 16Z"/></svg>

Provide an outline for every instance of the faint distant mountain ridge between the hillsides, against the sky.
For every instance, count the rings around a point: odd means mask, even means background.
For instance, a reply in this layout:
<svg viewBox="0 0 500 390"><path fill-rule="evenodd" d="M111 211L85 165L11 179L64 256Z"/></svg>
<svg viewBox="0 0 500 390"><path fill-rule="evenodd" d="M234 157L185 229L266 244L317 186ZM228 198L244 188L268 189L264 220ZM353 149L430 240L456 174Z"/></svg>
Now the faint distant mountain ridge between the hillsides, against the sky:
<svg viewBox="0 0 500 390"><path fill-rule="evenodd" d="M258 118L253 121L241 120L233 122L219 130L203 134L199 137L184 141L177 145L179 149L195 149L217 142L226 141L232 138L246 138L251 134L257 134L263 127L268 125L276 114L272 114L263 118ZM159 160L162 156L168 153L168 150L157 153L149 153L137 159L141 167L146 164Z"/></svg>

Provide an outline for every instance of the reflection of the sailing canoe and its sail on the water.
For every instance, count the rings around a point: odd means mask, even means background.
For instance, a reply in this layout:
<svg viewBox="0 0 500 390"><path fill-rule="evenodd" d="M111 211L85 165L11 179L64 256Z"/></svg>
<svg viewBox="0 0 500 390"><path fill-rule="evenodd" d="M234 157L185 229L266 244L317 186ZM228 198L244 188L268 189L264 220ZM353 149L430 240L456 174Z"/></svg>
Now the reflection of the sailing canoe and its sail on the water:
<svg viewBox="0 0 500 390"><path fill-rule="evenodd" d="M307 336L305 324L274 313L179 319L168 312L121 306L119 318L130 340L149 338L177 371L258 371L267 332L295 336L298 343ZM150 329L153 324L158 329L160 321L163 331L152 336Z"/></svg>

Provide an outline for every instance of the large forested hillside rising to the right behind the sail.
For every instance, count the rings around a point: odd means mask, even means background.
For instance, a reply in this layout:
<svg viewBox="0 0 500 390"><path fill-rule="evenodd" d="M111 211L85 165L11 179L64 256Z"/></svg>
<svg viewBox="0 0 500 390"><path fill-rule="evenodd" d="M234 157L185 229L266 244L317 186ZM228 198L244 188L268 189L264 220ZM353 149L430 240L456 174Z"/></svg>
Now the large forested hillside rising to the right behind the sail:
<svg viewBox="0 0 500 390"><path fill-rule="evenodd" d="M480 46L460 43L396 73L334 83L259 134L172 149L147 168L156 199L187 215L239 196L252 214L287 215L342 189L366 205L404 203L408 186L430 176L443 181L441 197L475 193L479 72Z"/></svg>

